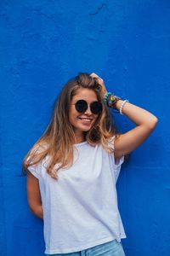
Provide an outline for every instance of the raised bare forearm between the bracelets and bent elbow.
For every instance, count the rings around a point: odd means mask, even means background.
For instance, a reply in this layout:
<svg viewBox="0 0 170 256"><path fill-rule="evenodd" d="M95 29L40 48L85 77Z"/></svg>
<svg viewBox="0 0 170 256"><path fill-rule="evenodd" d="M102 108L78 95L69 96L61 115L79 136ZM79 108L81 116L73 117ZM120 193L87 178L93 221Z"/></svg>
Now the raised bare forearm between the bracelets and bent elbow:
<svg viewBox="0 0 170 256"><path fill-rule="evenodd" d="M116 102L116 108L119 109L122 105L122 100ZM122 113L131 119L136 125L146 125L148 128L153 129L156 126L157 118L149 111L139 108L132 103L126 102L122 108Z"/></svg>

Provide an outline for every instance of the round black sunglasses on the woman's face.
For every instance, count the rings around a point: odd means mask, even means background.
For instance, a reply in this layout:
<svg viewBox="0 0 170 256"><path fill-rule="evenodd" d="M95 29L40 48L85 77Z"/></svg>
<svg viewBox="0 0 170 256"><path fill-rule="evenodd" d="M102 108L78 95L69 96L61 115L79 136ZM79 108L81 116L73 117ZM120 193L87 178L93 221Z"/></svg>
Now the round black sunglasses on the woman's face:
<svg viewBox="0 0 170 256"><path fill-rule="evenodd" d="M79 113L84 113L88 109L88 102L84 100L79 100L74 105L75 105L75 108L77 109L77 112ZM102 112L103 107L101 102L92 102L89 105L92 113L99 114Z"/></svg>

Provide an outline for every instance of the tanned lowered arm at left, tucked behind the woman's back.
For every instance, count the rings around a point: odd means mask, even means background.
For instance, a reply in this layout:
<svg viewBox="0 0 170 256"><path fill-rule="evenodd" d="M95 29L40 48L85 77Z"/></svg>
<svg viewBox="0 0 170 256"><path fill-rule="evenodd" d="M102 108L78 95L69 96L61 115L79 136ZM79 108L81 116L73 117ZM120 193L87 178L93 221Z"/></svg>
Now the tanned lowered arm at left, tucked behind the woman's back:
<svg viewBox="0 0 170 256"><path fill-rule="evenodd" d="M40 194L39 182L31 172L27 172L27 199L31 212L38 218L43 219L42 198Z"/></svg>

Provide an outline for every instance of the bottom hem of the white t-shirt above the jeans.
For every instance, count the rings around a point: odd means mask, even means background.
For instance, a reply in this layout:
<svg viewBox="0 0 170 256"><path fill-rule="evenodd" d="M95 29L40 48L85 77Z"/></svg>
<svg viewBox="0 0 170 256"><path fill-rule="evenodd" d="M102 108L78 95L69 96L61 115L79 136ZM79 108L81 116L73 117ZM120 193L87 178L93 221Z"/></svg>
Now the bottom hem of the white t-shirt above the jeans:
<svg viewBox="0 0 170 256"><path fill-rule="evenodd" d="M67 248L67 249L49 249L46 248L45 250L45 254L54 254L54 253L76 253L76 252L79 252L79 251L82 251L82 250L85 250L85 249L88 249L90 247L95 247L95 246L98 246L100 244L103 244L105 242L108 242L108 241L112 241L112 240L117 240L117 241L120 241L122 238L126 238L127 236L121 236L119 239L117 239L116 237L114 236L109 236L109 237L106 237L106 238L103 238L103 239L99 239L97 241L93 241L93 242L89 242L88 244L82 246L82 247L73 247L73 248Z"/></svg>

